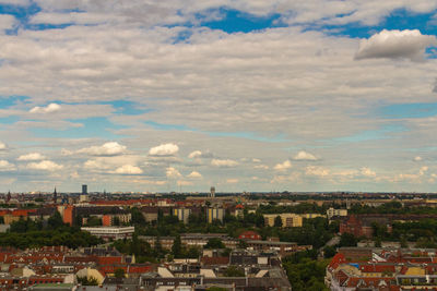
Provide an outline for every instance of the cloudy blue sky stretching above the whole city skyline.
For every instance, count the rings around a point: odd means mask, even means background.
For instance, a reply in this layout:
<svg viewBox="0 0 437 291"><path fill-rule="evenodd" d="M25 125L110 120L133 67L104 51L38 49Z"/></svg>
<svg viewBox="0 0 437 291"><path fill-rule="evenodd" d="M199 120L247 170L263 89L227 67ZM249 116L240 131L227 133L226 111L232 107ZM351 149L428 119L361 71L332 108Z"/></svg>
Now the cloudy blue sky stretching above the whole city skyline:
<svg viewBox="0 0 437 291"><path fill-rule="evenodd" d="M435 0L0 0L0 192L437 191Z"/></svg>

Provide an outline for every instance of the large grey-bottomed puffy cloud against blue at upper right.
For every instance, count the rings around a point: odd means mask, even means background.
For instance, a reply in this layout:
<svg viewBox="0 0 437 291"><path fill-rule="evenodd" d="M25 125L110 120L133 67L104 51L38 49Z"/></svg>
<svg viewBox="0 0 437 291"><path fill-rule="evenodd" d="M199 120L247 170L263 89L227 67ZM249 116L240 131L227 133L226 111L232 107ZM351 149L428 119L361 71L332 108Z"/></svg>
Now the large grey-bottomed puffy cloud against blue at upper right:
<svg viewBox="0 0 437 291"><path fill-rule="evenodd" d="M405 58L413 61L423 60L425 49L437 45L435 36L423 35L418 29L387 31L373 35L359 43L355 59Z"/></svg>

